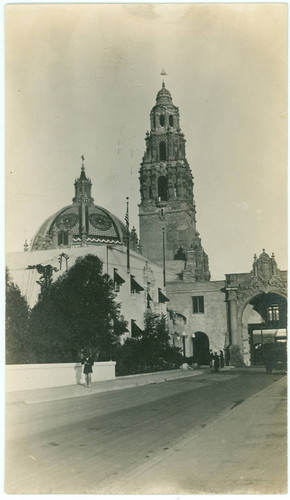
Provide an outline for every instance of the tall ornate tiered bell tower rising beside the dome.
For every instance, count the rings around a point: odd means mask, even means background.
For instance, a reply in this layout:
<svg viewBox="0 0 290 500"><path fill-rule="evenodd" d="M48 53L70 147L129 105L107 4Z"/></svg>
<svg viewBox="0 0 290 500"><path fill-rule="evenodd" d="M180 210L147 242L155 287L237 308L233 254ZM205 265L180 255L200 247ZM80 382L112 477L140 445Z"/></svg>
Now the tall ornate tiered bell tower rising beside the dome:
<svg viewBox="0 0 290 500"><path fill-rule="evenodd" d="M186 273L193 280L208 281L208 258L196 230L193 177L186 159L185 138L180 129L179 109L163 81L150 113L150 132L140 177L139 204L142 254L153 262L190 262Z"/></svg>

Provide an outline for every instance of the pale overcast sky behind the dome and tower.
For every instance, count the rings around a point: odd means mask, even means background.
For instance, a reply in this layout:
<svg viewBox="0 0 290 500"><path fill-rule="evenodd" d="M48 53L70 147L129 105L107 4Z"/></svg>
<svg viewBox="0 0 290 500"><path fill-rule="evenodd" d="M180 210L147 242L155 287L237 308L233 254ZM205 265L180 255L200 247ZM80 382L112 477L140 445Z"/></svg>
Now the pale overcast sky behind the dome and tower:
<svg viewBox="0 0 290 500"><path fill-rule="evenodd" d="M287 5L6 7L6 249L74 196L137 227L149 114L179 106L197 228L213 279L253 254L287 265Z"/></svg>

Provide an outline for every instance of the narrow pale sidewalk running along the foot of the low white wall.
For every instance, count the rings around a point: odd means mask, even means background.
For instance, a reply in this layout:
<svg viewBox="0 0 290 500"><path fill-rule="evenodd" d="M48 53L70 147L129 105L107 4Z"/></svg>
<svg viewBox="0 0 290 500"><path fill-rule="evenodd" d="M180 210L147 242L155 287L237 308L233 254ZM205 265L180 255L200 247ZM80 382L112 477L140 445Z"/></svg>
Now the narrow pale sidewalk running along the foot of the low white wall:
<svg viewBox="0 0 290 500"><path fill-rule="evenodd" d="M227 367L230 368L230 367ZM170 370L157 373L146 373L141 375L128 375L117 377L114 380L93 382L91 387L85 385L69 385L64 387L53 387L49 389L34 389L29 391L17 391L6 393L6 404L24 403L36 404L62 399L90 396L101 392L128 389L147 384L158 384L179 378L194 377L203 373L209 373L208 367L195 370Z"/></svg>

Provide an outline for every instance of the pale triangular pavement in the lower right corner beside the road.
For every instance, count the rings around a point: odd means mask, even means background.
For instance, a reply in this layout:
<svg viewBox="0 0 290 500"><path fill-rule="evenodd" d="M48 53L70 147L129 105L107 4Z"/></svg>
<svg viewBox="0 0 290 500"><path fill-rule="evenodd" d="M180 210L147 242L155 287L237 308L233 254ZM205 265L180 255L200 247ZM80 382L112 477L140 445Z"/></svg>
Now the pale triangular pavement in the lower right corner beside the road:
<svg viewBox="0 0 290 500"><path fill-rule="evenodd" d="M210 471L210 473L209 473ZM98 493L135 495L287 492L287 377Z"/></svg>

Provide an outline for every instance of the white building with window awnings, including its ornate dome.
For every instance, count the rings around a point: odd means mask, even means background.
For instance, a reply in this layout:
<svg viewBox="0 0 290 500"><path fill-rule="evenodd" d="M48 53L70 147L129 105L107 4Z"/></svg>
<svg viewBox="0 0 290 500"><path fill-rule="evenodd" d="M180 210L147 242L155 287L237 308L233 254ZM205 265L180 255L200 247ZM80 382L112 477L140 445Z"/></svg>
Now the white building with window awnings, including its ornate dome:
<svg viewBox="0 0 290 500"><path fill-rule="evenodd" d="M140 335L146 311L166 314L162 267L134 250L134 229L128 232L120 219L94 204L84 165L72 201L41 225L24 252L7 255L12 280L33 307L42 287L66 272L78 257L96 255L103 262L103 272L114 281L116 301L128 322L127 336Z"/></svg>

